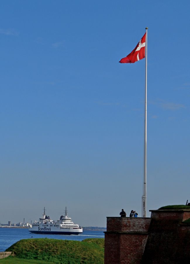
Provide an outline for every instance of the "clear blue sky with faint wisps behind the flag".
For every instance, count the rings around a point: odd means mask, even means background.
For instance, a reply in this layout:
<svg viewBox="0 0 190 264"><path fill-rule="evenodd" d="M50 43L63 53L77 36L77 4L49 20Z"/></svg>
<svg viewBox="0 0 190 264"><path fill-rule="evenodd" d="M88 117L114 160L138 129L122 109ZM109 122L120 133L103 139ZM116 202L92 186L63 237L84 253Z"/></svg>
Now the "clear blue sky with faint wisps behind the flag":
<svg viewBox="0 0 190 264"><path fill-rule="evenodd" d="M118 62L145 27L147 209L190 200L189 7L1 1L1 223L141 215L145 59Z"/></svg>

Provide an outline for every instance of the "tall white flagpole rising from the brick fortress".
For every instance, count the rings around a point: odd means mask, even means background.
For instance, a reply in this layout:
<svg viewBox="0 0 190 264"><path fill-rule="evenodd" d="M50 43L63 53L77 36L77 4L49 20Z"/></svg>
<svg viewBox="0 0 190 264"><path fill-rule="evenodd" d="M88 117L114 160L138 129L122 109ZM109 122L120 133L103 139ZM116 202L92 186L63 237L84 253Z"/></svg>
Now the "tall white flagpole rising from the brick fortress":
<svg viewBox="0 0 190 264"><path fill-rule="evenodd" d="M146 46L145 46L145 121L144 121L144 181L142 195L142 217L146 217L146 156L147 156L147 29L146 27Z"/></svg>

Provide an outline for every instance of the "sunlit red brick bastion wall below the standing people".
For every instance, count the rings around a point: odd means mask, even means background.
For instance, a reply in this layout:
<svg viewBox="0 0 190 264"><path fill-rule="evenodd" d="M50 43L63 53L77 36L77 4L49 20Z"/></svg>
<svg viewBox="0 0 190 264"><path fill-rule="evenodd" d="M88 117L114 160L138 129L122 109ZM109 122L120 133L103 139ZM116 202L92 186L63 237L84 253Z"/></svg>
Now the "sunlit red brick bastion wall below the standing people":
<svg viewBox="0 0 190 264"><path fill-rule="evenodd" d="M150 218L107 217L105 264L141 262Z"/></svg>

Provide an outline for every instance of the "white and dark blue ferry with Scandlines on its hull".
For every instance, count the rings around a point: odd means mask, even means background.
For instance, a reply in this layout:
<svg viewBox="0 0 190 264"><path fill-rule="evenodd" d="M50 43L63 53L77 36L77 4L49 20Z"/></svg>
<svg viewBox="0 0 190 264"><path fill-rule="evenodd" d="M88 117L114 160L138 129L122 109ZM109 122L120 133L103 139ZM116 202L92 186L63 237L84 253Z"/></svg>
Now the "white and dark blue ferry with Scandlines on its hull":
<svg viewBox="0 0 190 264"><path fill-rule="evenodd" d="M42 217L39 218L39 221L34 221L29 231L34 234L78 235L82 233L82 227L71 222L67 207L65 208L65 215L57 221L53 221L49 216L46 216L44 207Z"/></svg>

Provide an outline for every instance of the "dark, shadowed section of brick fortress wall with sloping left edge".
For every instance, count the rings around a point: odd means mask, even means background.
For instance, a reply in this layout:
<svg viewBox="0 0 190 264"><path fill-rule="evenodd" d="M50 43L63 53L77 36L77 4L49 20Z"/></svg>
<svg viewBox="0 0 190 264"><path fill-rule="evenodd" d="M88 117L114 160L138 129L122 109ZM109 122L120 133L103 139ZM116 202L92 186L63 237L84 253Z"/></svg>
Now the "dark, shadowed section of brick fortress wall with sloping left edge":
<svg viewBox="0 0 190 264"><path fill-rule="evenodd" d="M152 211L141 264L189 264L190 226L182 224L188 218L185 210Z"/></svg>

